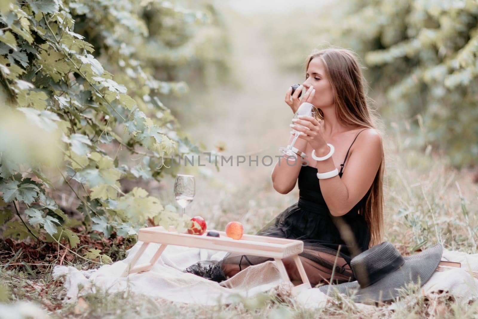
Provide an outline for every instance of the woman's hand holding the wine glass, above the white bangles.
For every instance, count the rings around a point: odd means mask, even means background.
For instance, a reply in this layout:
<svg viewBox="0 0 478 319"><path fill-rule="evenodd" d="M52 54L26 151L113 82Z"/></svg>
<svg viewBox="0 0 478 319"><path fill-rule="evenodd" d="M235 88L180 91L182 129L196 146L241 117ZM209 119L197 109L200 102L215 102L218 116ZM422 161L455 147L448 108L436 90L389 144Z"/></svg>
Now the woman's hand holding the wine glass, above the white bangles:
<svg viewBox="0 0 478 319"><path fill-rule="evenodd" d="M307 141L310 146L315 150L316 156L322 156L319 153L327 153L328 145L324 139L324 121L316 120L312 116L299 115L299 119L292 120L295 124L304 125L305 127L292 125L291 128L304 134L299 134L298 138ZM323 151L323 152L321 152Z"/></svg>

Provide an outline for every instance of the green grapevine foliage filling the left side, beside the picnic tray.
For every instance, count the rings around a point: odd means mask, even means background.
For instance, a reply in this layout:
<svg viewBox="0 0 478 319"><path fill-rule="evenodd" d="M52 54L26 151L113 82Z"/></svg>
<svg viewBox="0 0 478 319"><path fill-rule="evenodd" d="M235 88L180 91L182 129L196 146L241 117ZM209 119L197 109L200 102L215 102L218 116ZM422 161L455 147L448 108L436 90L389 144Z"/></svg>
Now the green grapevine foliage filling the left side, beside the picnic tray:
<svg viewBox="0 0 478 319"><path fill-rule="evenodd" d="M175 173L166 170L172 157L200 152L159 98L186 93L186 83L158 80L150 59L161 56L170 69L188 59L207 63L206 55L178 56L207 44L196 37L210 18L208 11L169 1L27 0L0 6L3 236L78 245L70 229L75 223L64 212L75 208L60 208L54 200L55 175L81 202L76 210L87 231L126 237L149 218L184 221L144 189L124 193L120 181L160 180ZM162 29L156 36L153 20L180 27L182 35ZM179 42L172 51L173 39ZM155 56L146 57L153 48ZM141 156L141 164L131 165L125 153ZM111 262L95 250L87 253L98 257Z"/></svg>

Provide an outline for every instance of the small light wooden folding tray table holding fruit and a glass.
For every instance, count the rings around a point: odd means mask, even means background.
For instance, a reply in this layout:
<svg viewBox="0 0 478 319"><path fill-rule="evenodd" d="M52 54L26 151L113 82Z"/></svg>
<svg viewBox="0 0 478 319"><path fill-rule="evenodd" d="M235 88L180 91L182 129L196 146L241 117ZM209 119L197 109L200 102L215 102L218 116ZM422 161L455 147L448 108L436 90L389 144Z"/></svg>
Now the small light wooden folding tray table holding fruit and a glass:
<svg viewBox="0 0 478 319"><path fill-rule="evenodd" d="M247 234L242 235L241 239L236 240L229 238L224 231L214 230L219 233L219 237L206 236L208 231L209 230L206 230L202 235L191 235L186 232L166 231L163 226L141 228L138 240L143 242L143 244L123 272L122 277L126 277L132 273L149 271L167 245L177 245L274 258L282 280L284 281L290 281L290 279L282 263L282 259L293 256L293 260L303 282L293 288L294 292L311 288L307 275L305 274L304 266L298 255L304 250L304 242L287 238ZM159 246L149 263L136 265L136 262L151 242L160 243L161 246Z"/></svg>

